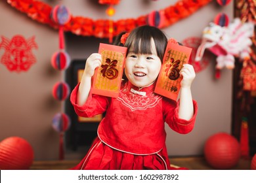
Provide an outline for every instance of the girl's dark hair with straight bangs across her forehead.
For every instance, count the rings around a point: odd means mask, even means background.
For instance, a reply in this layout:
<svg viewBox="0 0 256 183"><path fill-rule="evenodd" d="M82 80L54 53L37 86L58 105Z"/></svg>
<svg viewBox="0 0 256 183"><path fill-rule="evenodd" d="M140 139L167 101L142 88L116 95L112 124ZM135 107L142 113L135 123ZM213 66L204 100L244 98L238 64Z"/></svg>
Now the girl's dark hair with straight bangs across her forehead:
<svg viewBox="0 0 256 183"><path fill-rule="evenodd" d="M151 38L154 39L156 44L158 57L163 61L167 37L160 29L150 25L143 25L131 31L124 44L124 46L127 47L127 53L133 51L135 54L152 54ZM130 50L131 48L133 50Z"/></svg>

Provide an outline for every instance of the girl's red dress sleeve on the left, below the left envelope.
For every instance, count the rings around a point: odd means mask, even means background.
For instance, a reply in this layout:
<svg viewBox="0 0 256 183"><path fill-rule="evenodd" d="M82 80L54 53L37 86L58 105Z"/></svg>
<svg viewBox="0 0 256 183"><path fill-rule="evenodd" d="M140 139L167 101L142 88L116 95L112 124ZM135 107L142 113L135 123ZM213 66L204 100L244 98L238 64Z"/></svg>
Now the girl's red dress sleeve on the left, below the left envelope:
<svg viewBox="0 0 256 183"><path fill-rule="evenodd" d="M105 112L109 102L108 97L102 95L93 95L91 92L89 93L88 99L84 105L77 105L77 92L79 84L75 86L70 95L70 102L74 107L75 113L81 117L91 118L96 114L102 114Z"/></svg>

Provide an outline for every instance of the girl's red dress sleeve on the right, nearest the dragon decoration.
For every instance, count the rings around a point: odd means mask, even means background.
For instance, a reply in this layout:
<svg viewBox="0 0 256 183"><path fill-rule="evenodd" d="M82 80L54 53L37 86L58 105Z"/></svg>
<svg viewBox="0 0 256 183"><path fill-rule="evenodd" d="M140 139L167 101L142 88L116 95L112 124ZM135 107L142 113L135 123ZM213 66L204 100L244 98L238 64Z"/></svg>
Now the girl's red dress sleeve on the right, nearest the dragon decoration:
<svg viewBox="0 0 256 183"><path fill-rule="evenodd" d="M196 115L198 113L198 104L193 100L194 114L190 120L183 120L179 118L179 101L163 100L163 116L165 122L178 133L186 134L192 131L196 122Z"/></svg>

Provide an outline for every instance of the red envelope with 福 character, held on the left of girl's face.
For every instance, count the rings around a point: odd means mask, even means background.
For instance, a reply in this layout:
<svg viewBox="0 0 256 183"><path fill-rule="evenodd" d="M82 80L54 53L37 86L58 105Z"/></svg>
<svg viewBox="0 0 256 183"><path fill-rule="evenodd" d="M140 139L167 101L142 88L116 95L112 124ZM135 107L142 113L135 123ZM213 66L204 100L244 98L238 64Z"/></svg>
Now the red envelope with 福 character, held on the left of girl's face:
<svg viewBox="0 0 256 183"><path fill-rule="evenodd" d="M93 76L93 94L118 97L126 52L126 47L100 43L98 53L101 54L102 65Z"/></svg>

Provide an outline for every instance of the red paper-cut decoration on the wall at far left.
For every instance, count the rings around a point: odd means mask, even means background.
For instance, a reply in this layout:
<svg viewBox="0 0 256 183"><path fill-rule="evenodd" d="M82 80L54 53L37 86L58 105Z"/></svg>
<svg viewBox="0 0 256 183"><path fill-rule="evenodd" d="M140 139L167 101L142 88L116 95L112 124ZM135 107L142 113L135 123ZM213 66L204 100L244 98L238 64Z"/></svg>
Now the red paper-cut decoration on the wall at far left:
<svg viewBox="0 0 256 183"><path fill-rule="evenodd" d="M31 65L36 62L32 53L32 48L37 48L35 37L25 39L22 35L15 35L9 40L7 37L1 36L0 49L4 48L5 53L1 58L9 71L28 71Z"/></svg>

